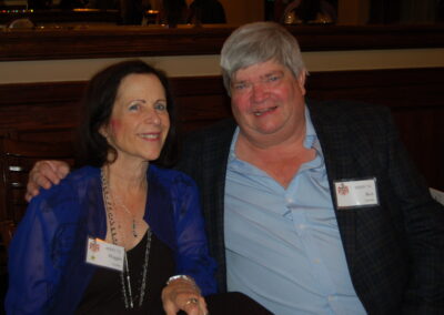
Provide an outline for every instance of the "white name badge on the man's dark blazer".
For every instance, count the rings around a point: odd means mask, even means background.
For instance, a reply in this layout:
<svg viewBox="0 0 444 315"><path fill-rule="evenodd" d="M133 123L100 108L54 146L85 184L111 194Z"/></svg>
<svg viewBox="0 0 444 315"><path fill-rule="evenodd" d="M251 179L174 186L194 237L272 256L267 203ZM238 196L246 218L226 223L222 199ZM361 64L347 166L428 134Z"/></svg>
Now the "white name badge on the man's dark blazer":
<svg viewBox="0 0 444 315"><path fill-rule="evenodd" d="M337 209L379 205L376 179L340 180L334 182Z"/></svg>

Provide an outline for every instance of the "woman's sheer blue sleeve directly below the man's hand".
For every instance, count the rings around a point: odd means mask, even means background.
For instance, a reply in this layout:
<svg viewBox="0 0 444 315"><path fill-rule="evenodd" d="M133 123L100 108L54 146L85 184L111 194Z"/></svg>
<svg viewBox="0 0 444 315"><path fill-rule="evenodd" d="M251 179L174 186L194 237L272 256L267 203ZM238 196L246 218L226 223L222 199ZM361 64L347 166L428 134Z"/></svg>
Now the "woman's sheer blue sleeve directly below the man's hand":
<svg viewBox="0 0 444 315"><path fill-rule="evenodd" d="M58 215L54 207L69 215ZM28 206L9 248L8 314L48 314L70 251L74 207L60 186L42 191Z"/></svg>

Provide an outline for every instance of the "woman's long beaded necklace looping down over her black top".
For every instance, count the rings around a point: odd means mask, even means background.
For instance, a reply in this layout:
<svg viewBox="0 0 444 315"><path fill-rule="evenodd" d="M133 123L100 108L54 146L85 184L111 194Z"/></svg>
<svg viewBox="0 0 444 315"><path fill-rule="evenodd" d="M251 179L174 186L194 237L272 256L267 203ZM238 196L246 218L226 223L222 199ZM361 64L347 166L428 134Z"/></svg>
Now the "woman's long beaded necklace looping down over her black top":
<svg viewBox="0 0 444 315"><path fill-rule="evenodd" d="M109 192L109 183L108 179L104 174L103 167L100 170L100 177L102 181L102 191L103 191L103 200L104 200L104 206L107 211L107 217L108 222L110 225L110 234L112 238L112 243L114 245L118 244L118 231L115 227L115 219L114 219L114 213L113 213L113 202L111 200L111 195ZM134 223L134 217L133 217L133 223ZM134 228L134 226L133 226ZM133 230L134 232L134 230ZM134 234L134 233L133 233ZM137 236L134 236L137 237ZM140 284L140 292L139 292L139 307L142 306L143 304L143 298L145 295L145 287L147 287L147 274L148 274L148 262L150 257L150 247L151 247L151 230L148 228L147 231L147 246L145 246L145 256L143 261L143 268L141 272L141 278L142 282ZM120 273L120 281L122 284L122 295L123 295L123 302L125 305L125 308L134 308L134 302L133 302L133 296L132 296L132 289L131 289L131 276L130 276L130 266L128 264L128 257L127 257L127 252L124 253L124 261L123 261L123 272ZM128 289L127 289L128 285ZM135 296L137 298L137 296Z"/></svg>

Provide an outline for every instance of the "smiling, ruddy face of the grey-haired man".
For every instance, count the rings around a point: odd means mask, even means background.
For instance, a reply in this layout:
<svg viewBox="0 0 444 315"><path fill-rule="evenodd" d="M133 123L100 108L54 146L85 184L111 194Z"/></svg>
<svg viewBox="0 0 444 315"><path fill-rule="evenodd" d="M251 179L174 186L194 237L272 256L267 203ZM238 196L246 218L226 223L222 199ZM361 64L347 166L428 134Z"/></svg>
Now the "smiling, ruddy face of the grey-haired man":
<svg viewBox="0 0 444 315"><path fill-rule="evenodd" d="M295 78L269 60L235 72L231 106L241 132L255 140L282 140L304 122L305 73Z"/></svg>

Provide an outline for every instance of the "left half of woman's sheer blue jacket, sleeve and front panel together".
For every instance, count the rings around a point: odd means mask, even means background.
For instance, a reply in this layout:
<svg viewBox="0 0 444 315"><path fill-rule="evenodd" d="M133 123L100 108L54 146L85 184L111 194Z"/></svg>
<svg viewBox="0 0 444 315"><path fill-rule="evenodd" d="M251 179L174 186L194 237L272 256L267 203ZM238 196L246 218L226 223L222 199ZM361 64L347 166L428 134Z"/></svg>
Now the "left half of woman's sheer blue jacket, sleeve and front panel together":
<svg viewBox="0 0 444 315"><path fill-rule="evenodd" d="M9 248L8 314L75 311L94 271L84 263L87 237L107 232L100 203L99 171L92 167L31 201Z"/></svg>

